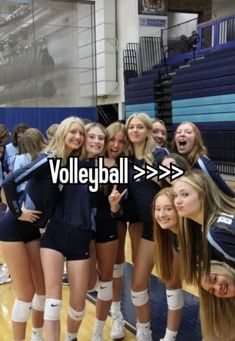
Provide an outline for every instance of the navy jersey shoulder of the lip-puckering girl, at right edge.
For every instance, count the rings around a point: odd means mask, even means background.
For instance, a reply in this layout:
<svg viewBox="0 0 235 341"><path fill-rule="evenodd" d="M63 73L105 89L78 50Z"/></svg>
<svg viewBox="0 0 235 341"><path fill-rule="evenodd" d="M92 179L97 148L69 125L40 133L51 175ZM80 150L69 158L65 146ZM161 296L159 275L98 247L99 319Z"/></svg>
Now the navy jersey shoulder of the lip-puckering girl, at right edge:
<svg viewBox="0 0 235 341"><path fill-rule="evenodd" d="M221 213L210 226L207 239L211 246L211 258L235 268L235 217Z"/></svg>

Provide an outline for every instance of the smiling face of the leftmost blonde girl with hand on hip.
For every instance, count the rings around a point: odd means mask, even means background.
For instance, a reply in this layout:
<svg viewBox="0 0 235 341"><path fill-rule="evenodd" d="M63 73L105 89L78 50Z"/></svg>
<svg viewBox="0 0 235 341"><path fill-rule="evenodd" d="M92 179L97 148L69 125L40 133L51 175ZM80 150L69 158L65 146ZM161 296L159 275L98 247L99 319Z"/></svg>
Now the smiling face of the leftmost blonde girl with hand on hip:
<svg viewBox="0 0 235 341"><path fill-rule="evenodd" d="M78 123L74 122L71 124L69 131L65 135L64 143L66 146L66 151L69 154L74 150L78 150L84 142L84 129Z"/></svg>

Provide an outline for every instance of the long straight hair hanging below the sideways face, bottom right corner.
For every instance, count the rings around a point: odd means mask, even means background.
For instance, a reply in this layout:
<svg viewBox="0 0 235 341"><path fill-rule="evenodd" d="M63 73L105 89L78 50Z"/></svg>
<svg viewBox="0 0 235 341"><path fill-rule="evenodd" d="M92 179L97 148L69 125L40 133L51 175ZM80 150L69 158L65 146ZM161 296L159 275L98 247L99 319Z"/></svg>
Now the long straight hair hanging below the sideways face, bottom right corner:
<svg viewBox="0 0 235 341"><path fill-rule="evenodd" d="M211 295L199 286L200 318L205 341L235 340L235 299Z"/></svg>

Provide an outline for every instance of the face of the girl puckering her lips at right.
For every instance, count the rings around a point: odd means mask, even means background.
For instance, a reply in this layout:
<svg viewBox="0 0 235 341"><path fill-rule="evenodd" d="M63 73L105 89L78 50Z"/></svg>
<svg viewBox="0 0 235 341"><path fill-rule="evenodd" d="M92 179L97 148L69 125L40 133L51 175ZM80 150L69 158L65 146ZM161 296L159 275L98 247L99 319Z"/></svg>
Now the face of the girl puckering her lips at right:
<svg viewBox="0 0 235 341"><path fill-rule="evenodd" d="M173 184L174 205L180 217L198 221L202 202L197 190L190 184L177 180Z"/></svg>

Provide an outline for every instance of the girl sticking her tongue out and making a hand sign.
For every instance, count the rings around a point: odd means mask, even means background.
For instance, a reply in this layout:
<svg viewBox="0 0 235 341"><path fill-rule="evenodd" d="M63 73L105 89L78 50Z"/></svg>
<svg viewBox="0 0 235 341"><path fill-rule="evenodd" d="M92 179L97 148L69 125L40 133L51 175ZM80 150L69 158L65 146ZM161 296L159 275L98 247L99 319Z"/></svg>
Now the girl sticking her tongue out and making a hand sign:
<svg viewBox="0 0 235 341"><path fill-rule="evenodd" d="M104 163L106 167L116 167L119 157L124 156L126 145L125 127L114 122L106 128L106 146ZM113 193L113 186L109 184L99 189L97 213L95 216L96 259L99 275L96 301L96 321L92 341L103 341L103 328L109 313L113 298L113 268L118 249L117 218L111 215L109 195ZM125 192L122 192L122 196ZM111 206L115 210L115 207Z"/></svg>

